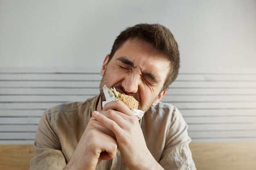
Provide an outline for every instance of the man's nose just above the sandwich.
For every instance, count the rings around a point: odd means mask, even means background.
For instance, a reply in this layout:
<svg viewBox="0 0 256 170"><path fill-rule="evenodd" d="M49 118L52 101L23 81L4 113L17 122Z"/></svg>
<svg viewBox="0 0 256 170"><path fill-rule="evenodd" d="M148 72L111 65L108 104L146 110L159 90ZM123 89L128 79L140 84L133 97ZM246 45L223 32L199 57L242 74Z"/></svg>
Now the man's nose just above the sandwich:
<svg viewBox="0 0 256 170"><path fill-rule="evenodd" d="M139 78L133 75L127 75L122 82L122 87L127 93L137 93L138 86Z"/></svg>

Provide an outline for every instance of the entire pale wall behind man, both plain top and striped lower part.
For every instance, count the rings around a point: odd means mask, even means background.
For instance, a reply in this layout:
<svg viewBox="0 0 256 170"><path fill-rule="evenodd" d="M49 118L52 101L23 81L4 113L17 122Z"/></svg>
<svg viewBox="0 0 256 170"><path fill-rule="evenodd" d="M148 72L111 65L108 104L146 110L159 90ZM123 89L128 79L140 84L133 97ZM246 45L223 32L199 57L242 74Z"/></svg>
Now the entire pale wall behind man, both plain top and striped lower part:
<svg viewBox="0 0 256 170"><path fill-rule="evenodd" d="M0 144L33 144L43 111L99 93L116 36L168 27L180 49L163 98L192 142L256 140L256 0L0 0Z"/></svg>

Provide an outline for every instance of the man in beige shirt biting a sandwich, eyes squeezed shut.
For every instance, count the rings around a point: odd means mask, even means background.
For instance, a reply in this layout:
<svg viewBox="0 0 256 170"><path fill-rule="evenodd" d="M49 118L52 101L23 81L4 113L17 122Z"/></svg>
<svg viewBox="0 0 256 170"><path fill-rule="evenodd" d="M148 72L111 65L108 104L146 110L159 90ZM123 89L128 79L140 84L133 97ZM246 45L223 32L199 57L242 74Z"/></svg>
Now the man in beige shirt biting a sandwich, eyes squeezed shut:
<svg viewBox="0 0 256 170"><path fill-rule="evenodd" d="M166 27L128 27L105 57L100 95L45 111L30 169L195 170L182 115L159 102L179 67L178 46ZM138 121L120 100L102 108L105 84L135 97L144 117Z"/></svg>

